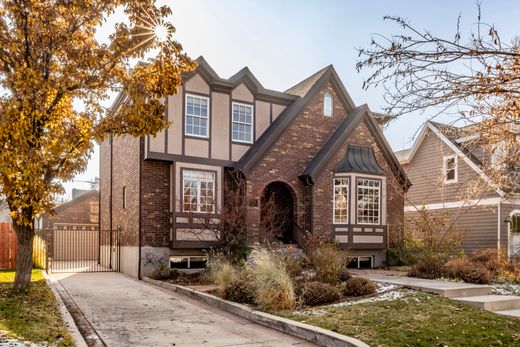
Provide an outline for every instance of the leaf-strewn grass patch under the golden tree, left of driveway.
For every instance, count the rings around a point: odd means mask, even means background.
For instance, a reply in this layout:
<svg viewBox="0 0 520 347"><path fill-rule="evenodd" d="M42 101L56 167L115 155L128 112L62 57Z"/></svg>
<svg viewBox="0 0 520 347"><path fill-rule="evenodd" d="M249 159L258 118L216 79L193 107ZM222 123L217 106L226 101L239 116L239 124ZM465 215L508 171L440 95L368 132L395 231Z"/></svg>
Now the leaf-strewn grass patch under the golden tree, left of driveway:
<svg viewBox="0 0 520 347"><path fill-rule="evenodd" d="M40 270L33 270L27 295L11 290L13 271L0 271L0 336L34 343L74 346L56 298Z"/></svg>

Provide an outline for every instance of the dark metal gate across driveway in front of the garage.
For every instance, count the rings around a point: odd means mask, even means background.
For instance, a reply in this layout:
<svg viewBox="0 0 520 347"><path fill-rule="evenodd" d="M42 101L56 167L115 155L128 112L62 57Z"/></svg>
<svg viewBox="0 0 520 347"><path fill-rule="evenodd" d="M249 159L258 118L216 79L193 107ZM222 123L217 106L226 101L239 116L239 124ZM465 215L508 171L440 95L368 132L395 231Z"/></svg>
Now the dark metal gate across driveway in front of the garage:
<svg viewBox="0 0 520 347"><path fill-rule="evenodd" d="M46 266L51 273L111 272L120 267L120 230L56 228L44 230Z"/></svg>

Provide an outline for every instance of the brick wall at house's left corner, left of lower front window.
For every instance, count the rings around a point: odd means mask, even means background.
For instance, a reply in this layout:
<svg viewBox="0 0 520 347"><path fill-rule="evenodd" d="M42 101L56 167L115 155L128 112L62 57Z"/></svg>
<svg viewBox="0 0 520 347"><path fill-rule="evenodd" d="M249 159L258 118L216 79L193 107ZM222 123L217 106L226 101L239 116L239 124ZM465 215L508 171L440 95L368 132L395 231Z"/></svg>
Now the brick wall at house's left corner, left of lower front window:
<svg viewBox="0 0 520 347"><path fill-rule="evenodd" d="M144 160L144 140L131 136L114 138L112 163L112 226L110 226L110 146L101 144L101 228L121 228L121 245L139 245L139 209L143 246L168 247L170 166ZM141 162L141 172L139 172ZM141 206L139 186L141 185ZM126 187L126 208L123 208Z"/></svg>

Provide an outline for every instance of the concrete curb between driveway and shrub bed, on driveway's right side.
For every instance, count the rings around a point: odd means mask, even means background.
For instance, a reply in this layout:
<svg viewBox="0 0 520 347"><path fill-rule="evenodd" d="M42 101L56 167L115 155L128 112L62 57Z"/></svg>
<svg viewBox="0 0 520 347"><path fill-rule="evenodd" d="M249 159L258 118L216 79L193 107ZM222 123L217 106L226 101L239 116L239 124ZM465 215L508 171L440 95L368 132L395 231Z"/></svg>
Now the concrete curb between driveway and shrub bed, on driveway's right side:
<svg viewBox="0 0 520 347"><path fill-rule="evenodd" d="M221 310L233 313L254 323L281 331L291 336L299 337L320 346L370 347L366 343L353 337L341 335L330 330L278 317L269 313L256 311L248 306L227 301L211 294L202 293L172 283L153 280L148 277L144 277L143 281L188 296L205 304L218 307Z"/></svg>

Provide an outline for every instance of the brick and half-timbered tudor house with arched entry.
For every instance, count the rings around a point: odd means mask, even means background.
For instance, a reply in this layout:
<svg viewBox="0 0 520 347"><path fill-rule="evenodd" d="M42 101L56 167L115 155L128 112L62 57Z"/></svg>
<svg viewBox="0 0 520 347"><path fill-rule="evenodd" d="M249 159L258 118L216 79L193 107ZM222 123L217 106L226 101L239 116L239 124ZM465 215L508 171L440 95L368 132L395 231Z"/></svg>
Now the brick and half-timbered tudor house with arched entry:
<svg viewBox="0 0 520 347"><path fill-rule="evenodd" d="M281 242L310 232L358 263L386 261L410 182L382 133L384 117L356 106L332 66L285 92L265 89L248 68L221 78L202 57L183 80L165 100L168 129L101 145L100 228L122 230L121 271L148 272L149 255L199 263L219 240L193 215L218 218L237 177L251 242L269 195L286 211Z"/></svg>

